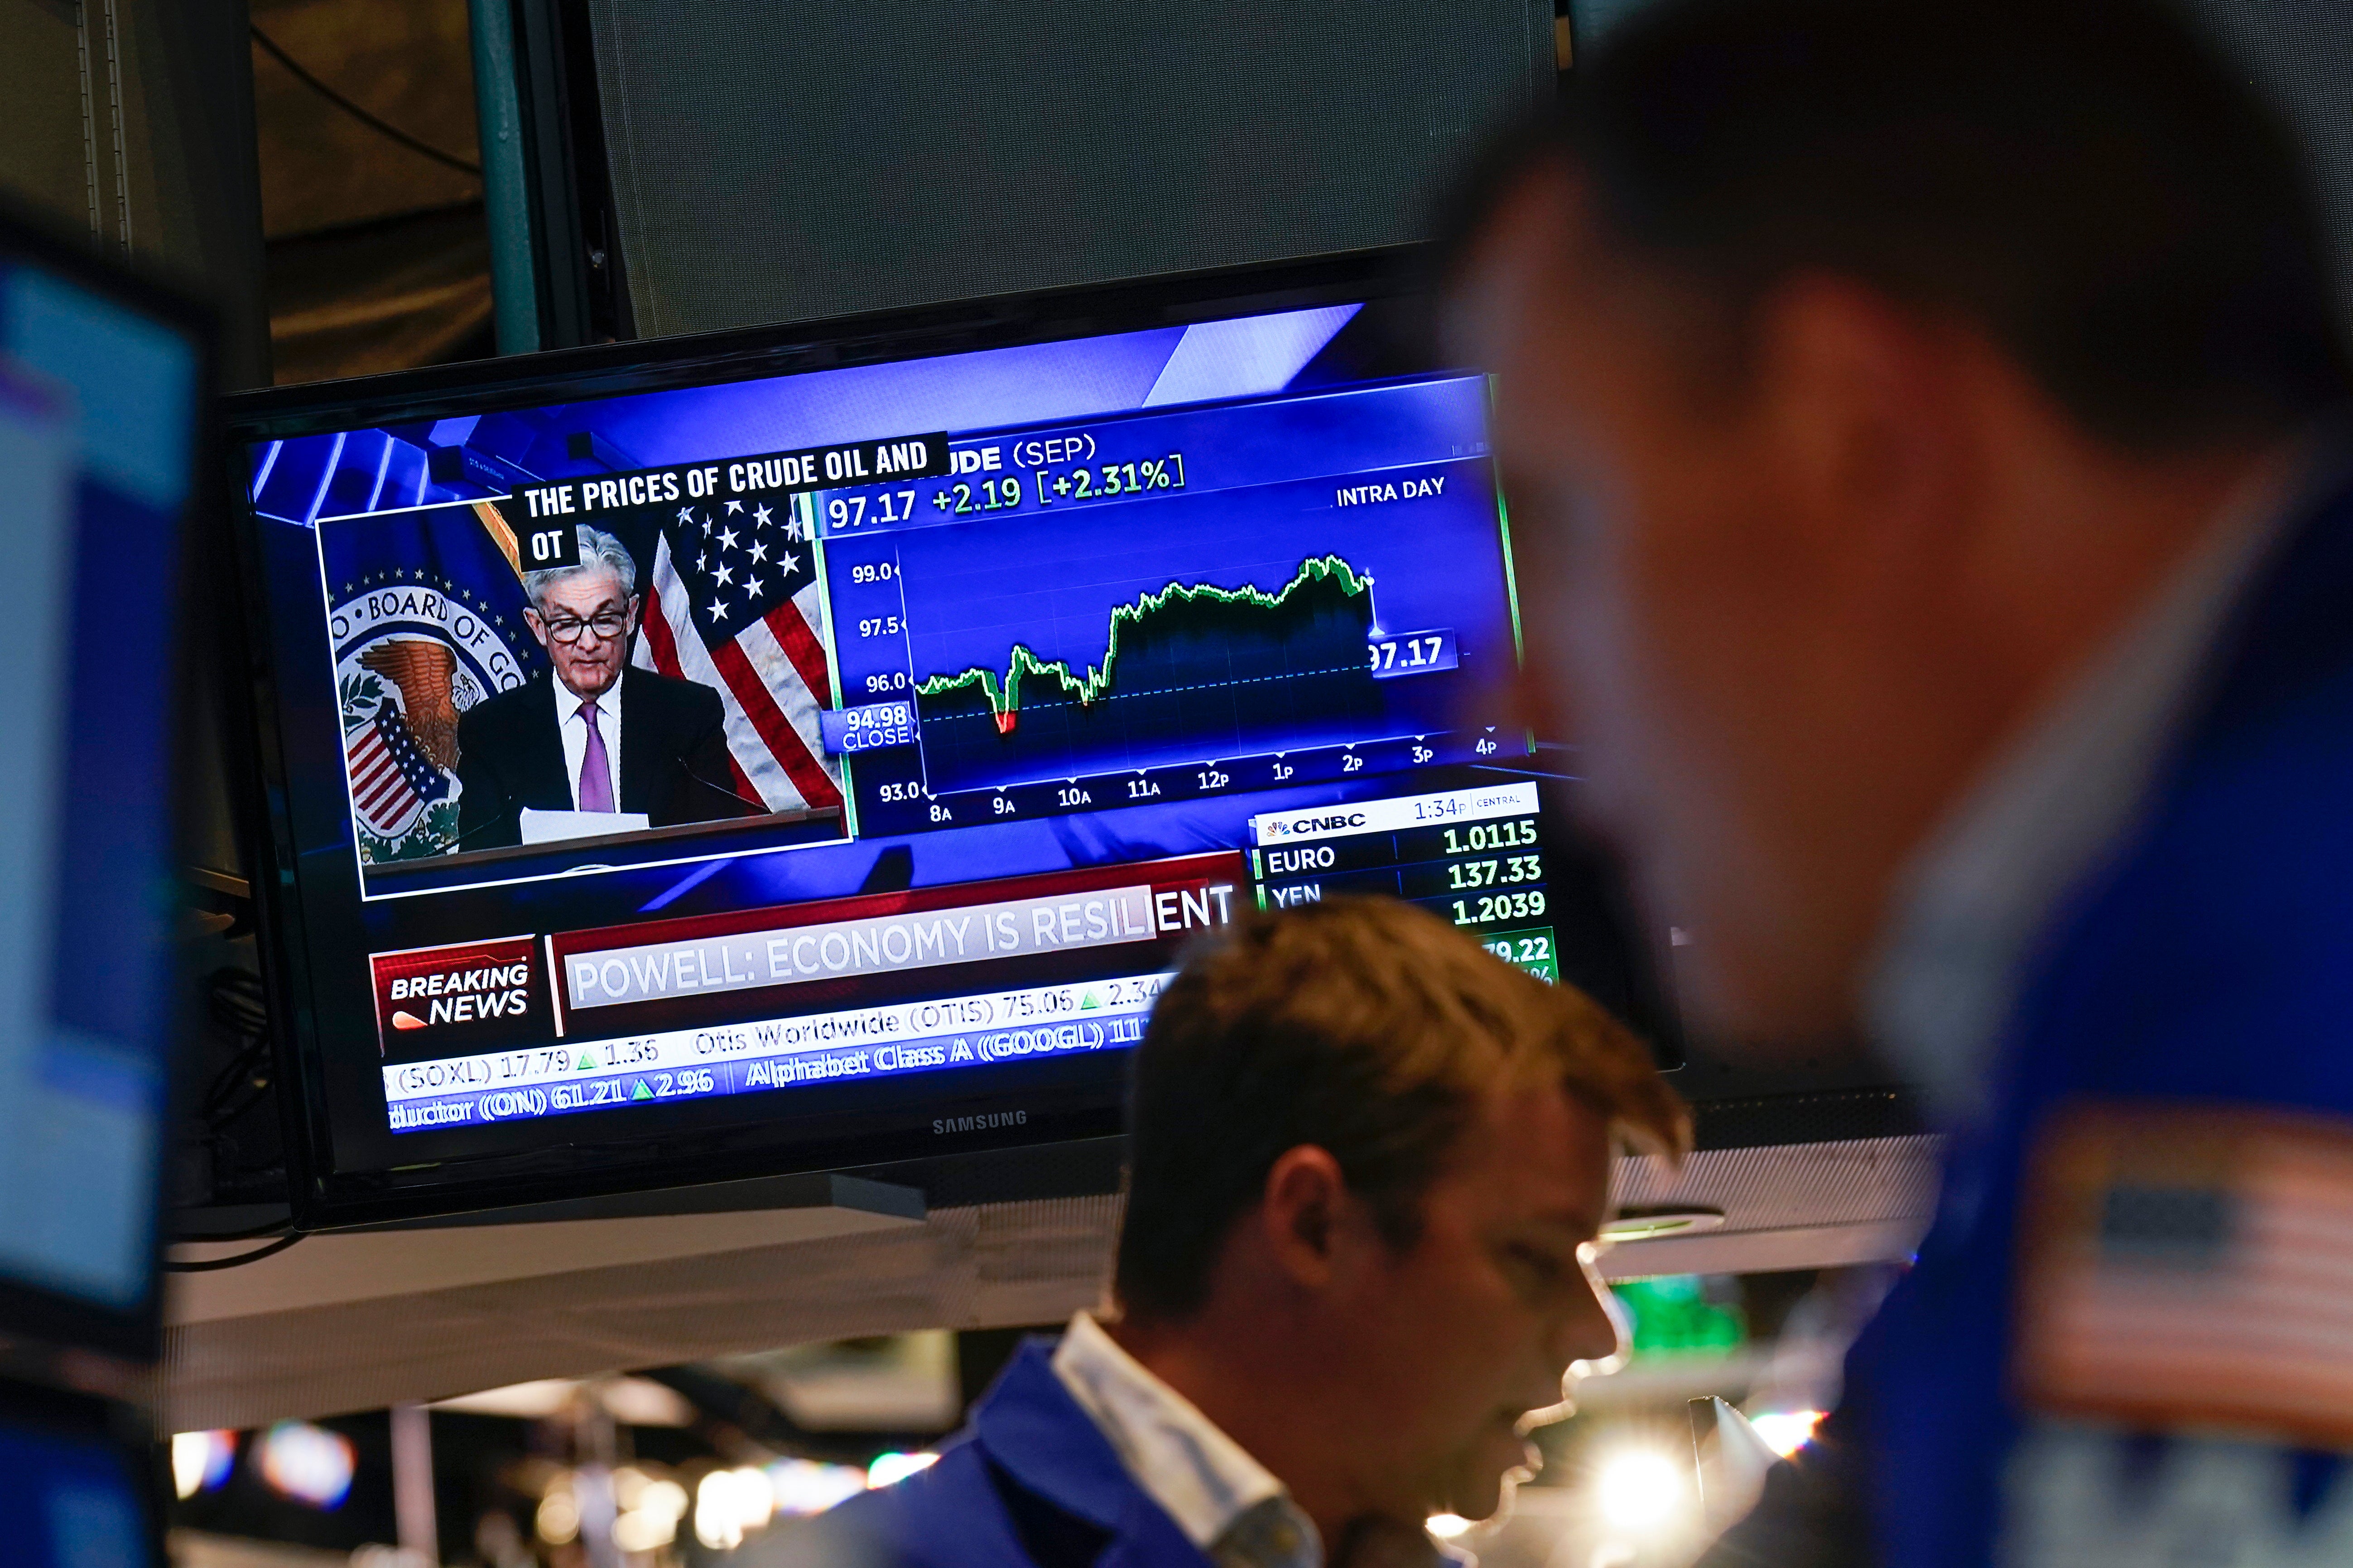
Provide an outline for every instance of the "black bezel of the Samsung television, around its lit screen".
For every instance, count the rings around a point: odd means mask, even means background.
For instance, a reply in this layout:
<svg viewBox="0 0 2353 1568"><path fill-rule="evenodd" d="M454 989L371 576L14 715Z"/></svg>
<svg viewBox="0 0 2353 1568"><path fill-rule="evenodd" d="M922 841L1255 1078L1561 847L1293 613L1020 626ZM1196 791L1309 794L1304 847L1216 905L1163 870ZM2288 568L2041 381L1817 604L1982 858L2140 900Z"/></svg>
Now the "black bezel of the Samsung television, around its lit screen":
<svg viewBox="0 0 2353 1568"><path fill-rule="evenodd" d="M384 1168L336 1171L334 1128L320 1072L320 1041L306 1030L308 954L301 952L304 889L287 853L287 766L275 731L268 670L266 581L259 524L245 496L252 442L353 430L416 418L456 418L522 402L586 402L722 381L953 355L1096 334L1179 327L1202 320L1301 310L1327 303L1424 296L1424 247L1313 256L1271 266L1219 268L1120 284L920 306L856 317L739 329L638 343L605 343L504 360L478 360L393 376L273 388L228 400L226 480L235 487L238 621L249 642L249 675L264 790L254 799L254 842L268 846L268 875L254 877L259 943L278 1034L278 1081L287 1143L294 1225L329 1229L419 1220L553 1199L581 1199L659 1187L687 1187L751 1175L873 1166L946 1150L922 1126L946 1100L941 1088L896 1086L878 1093L882 1110L821 1117L833 1133L793 1131L779 1114L736 1135L647 1128L638 1138L576 1143L548 1128L532 1154L452 1159L433 1173ZM1419 348L1419 346L1417 346ZM1657 987L1657 976L1649 976ZM1122 1088L1115 1063L1012 1063L988 1070L988 1088L953 1093L953 1110L1026 1112L1014 1126L958 1140L955 1152L1101 1138L1120 1131ZM958 1074L962 1077L962 1074ZM880 1088L880 1086L878 1086ZM901 1110L901 1105L906 1110ZM918 1114L920 1112L920 1114ZM661 1150L661 1145L680 1145ZM715 1147L720 1143L741 1147ZM701 1147L696 1147L701 1145ZM600 1164L621 1150L654 1150L626 1168Z"/></svg>

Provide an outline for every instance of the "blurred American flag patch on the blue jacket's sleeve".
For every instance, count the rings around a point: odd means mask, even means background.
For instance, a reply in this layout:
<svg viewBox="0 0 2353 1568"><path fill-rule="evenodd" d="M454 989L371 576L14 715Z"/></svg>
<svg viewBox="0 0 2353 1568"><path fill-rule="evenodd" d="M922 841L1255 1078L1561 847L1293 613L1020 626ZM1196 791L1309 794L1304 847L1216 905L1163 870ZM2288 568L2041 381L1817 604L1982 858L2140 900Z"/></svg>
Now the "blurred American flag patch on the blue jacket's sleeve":
<svg viewBox="0 0 2353 1568"><path fill-rule="evenodd" d="M2353 1446L2353 1124L2085 1107L2028 1192L2028 1403Z"/></svg>

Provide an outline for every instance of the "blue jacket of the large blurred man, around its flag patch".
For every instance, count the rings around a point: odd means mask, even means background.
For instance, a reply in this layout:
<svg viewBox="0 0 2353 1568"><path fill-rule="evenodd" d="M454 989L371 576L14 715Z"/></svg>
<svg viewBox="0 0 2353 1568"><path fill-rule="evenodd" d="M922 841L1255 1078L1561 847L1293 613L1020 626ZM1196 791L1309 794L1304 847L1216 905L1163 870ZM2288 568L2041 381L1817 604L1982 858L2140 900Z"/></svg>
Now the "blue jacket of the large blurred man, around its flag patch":
<svg viewBox="0 0 2353 1568"><path fill-rule="evenodd" d="M2353 1128L2353 489L2313 505L2259 574L2129 844L2049 926L2000 1060L1995 1112L1955 1138L1918 1267L1849 1356L1835 1427L1887 1568L2021 1561L2002 1542L2019 1530L2005 1465L2047 1427L2009 1385L2014 1258L2021 1171L2057 1110L2254 1107ZM2294 1561L2311 1561L2299 1521L2325 1509L2337 1542L2353 1509L2337 1455L2289 1441L2238 1439L2240 1479L2219 1493L2167 1469L2212 1436L2087 1441L2115 1455L2085 1469L2115 1476L2085 1505L2108 1521L2097 1561L2240 1561L2249 1530L2301 1540ZM2184 1523L2172 1544L2129 1544L2191 1493L2221 1497L2195 1526L2207 1540Z"/></svg>

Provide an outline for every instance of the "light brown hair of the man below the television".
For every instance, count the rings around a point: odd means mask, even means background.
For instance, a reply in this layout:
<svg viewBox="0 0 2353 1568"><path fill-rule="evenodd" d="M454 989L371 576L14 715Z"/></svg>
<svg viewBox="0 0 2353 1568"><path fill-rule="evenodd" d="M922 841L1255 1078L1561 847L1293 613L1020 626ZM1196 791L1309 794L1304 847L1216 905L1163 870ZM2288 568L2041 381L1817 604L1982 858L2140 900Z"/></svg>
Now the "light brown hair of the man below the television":
<svg viewBox="0 0 2353 1568"><path fill-rule="evenodd" d="M1195 950L1153 1009L1129 1095L1127 1215L1113 1293L1181 1319L1285 1150L1327 1150L1391 1246L1515 1081L1553 1081L1638 1147L1680 1154L1682 1100L1642 1041L1426 910L1332 898L1254 912Z"/></svg>

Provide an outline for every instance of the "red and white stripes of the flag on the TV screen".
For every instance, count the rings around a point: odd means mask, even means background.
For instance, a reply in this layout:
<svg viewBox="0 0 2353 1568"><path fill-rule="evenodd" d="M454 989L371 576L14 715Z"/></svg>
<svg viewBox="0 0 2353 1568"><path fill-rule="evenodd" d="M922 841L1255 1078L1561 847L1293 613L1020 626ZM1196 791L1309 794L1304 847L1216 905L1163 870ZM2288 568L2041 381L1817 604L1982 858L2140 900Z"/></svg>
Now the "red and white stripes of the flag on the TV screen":
<svg viewBox="0 0 2353 1568"><path fill-rule="evenodd" d="M816 715L833 696L826 649L812 630L821 616L824 597L812 574L800 592L779 599L732 639L706 644L664 529L633 663L720 693L734 785L746 797L758 795L769 811L842 804L840 776L816 733Z"/></svg>

